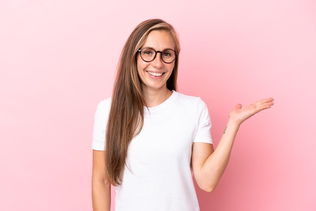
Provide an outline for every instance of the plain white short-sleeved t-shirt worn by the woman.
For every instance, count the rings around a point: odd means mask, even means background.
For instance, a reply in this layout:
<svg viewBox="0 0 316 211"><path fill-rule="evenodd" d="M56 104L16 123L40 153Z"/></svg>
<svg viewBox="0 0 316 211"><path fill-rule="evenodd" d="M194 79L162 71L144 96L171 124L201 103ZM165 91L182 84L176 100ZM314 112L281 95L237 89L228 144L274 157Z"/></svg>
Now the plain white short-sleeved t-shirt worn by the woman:
<svg viewBox="0 0 316 211"><path fill-rule="evenodd" d="M101 101L94 117L94 150L104 150L111 98ZM162 104L144 107L144 125L130 142L117 211L197 211L191 172L193 142L212 144L206 104L173 91Z"/></svg>

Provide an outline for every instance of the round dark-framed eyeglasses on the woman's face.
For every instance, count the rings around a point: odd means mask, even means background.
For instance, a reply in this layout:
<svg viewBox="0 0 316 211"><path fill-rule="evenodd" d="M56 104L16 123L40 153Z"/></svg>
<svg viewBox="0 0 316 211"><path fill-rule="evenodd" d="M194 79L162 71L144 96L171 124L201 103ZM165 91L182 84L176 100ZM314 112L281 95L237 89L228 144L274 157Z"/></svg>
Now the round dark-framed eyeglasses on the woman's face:
<svg viewBox="0 0 316 211"><path fill-rule="evenodd" d="M164 61L164 63L167 63L167 64L175 61L175 59L177 58L177 56L179 54L176 51L174 51L173 49L156 51L156 50L149 48L149 47L139 49L139 50L137 50L137 52L140 52L140 57L145 62L153 61L157 55L157 52L160 52L160 56L161 56L162 60Z"/></svg>

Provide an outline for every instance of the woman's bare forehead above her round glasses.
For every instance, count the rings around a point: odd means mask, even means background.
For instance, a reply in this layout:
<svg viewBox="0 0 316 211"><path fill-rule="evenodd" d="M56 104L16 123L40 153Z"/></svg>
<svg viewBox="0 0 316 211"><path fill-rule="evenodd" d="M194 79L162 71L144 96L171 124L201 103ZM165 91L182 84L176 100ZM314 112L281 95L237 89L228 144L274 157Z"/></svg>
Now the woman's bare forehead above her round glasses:
<svg viewBox="0 0 316 211"><path fill-rule="evenodd" d="M166 30L151 31L142 45L142 47L151 47L156 50L175 48L175 41L172 35Z"/></svg>

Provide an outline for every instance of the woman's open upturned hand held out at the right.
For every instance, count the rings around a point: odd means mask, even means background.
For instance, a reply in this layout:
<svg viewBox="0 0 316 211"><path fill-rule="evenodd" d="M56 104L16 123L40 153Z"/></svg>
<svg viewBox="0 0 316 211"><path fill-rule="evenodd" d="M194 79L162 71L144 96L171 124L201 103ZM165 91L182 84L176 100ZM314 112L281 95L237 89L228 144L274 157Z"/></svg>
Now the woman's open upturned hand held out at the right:
<svg viewBox="0 0 316 211"><path fill-rule="evenodd" d="M273 100L273 98L261 99L244 108L242 108L241 104L237 104L236 107L230 111L229 119L240 125L256 113L271 108L274 104Z"/></svg>

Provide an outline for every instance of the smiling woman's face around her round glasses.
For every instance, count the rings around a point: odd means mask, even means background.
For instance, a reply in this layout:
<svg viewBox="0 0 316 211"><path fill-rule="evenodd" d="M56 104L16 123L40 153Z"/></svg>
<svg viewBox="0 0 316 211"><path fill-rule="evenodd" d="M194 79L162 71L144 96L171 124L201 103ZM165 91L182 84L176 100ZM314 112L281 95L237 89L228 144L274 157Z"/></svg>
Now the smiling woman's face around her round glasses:
<svg viewBox="0 0 316 211"><path fill-rule="evenodd" d="M151 31L145 43L140 49L149 47L156 51L163 51L165 49L175 50L175 43L172 35L164 30ZM141 59L140 54L137 54L137 71L142 82L143 91L146 90L166 90L167 80L169 79L175 61L172 63L165 63L161 59L161 53L157 52L156 57L151 62L145 62Z"/></svg>

